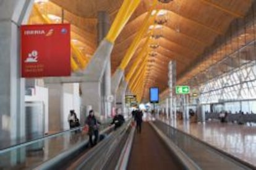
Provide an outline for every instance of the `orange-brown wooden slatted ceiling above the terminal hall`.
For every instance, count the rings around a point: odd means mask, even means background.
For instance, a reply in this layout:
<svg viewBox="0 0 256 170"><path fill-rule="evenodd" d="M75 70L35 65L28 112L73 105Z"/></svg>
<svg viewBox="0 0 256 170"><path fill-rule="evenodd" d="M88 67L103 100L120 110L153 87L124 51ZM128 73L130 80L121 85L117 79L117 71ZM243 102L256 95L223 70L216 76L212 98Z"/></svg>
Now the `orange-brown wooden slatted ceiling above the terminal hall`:
<svg viewBox="0 0 256 170"><path fill-rule="evenodd" d="M77 35L85 35L83 42L88 43L88 50L92 51L96 46L96 16L97 11L107 11L110 22L113 22L122 0L51 0L65 9L66 18L77 27ZM142 25L145 15L149 9L151 0L142 0L140 6L135 10L124 30L116 40L113 53L111 54L112 73L117 69L126 54L127 49L134 40L139 26ZM174 0L169 4L159 3L158 9L168 11L168 23L161 30L155 30L155 34L162 37L155 42L160 45L155 49L158 53L154 67L150 71L150 82L148 85L160 85L161 90L167 88L167 65L171 60L177 61L177 75L185 72L203 50L210 46L216 36L226 32L229 24L236 17L242 17L248 11L252 0ZM61 14L53 11L54 14ZM129 72L135 57L145 43L140 42L139 48L135 52L126 73ZM89 41L89 42L88 42ZM163 62L160 62L163 61ZM206 62L210 63L210 62ZM207 64L202 65L207 66ZM202 66L195 70L201 70ZM166 72L166 74L164 74ZM155 75L153 75L155 74ZM184 77L186 79L186 77ZM147 90L145 90L147 91ZM147 94L144 94L145 97Z"/></svg>

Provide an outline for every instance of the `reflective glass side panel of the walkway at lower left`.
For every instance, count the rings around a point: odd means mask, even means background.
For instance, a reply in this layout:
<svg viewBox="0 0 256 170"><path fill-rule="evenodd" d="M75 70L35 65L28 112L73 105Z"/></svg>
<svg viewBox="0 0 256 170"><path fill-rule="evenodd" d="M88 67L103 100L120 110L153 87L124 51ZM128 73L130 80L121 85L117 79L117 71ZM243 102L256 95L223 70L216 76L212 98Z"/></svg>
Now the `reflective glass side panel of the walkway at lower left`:
<svg viewBox="0 0 256 170"><path fill-rule="evenodd" d="M46 160L88 139L85 133L70 132L0 154L0 169L33 169Z"/></svg>

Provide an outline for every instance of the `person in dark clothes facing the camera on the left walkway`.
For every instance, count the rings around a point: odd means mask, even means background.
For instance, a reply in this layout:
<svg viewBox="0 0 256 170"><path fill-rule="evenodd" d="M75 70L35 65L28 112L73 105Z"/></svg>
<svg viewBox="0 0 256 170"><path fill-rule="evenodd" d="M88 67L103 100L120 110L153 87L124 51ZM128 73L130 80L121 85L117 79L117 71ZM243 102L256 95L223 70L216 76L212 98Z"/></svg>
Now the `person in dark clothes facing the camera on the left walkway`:
<svg viewBox="0 0 256 170"><path fill-rule="evenodd" d="M101 124L95 117L94 111L89 111L89 116L85 120L85 124L88 126L88 135L90 137L90 145L91 147L95 146L98 142L98 135L99 135L99 124ZM94 135L94 142L92 140Z"/></svg>

